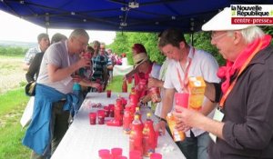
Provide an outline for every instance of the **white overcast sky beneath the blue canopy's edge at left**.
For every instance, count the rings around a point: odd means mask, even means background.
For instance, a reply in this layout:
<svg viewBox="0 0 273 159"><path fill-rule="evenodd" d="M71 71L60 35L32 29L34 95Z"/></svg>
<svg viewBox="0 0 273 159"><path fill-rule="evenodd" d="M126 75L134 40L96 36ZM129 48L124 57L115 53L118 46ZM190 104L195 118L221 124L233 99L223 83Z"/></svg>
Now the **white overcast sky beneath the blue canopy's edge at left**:
<svg viewBox="0 0 273 159"><path fill-rule="evenodd" d="M20 42L36 42L37 35L45 33L45 28L34 25L14 15L6 14L0 10L0 40L20 41ZM67 29L49 29L48 35L51 38L56 33L69 36L72 30ZM106 31L87 31L90 36L89 43L98 40L110 45L115 36L115 32Z"/></svg>

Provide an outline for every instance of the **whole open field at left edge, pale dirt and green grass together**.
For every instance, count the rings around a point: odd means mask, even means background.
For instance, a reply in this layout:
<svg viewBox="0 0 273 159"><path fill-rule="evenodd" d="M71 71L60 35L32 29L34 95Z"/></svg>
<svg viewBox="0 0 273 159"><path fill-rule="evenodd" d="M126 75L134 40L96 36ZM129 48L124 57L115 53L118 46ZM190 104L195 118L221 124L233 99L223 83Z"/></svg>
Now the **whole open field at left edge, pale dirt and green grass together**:
<svg viewBox="0 0 273 159"><path fill-rule="evenodd" d="M25 72L22 56L0 56L0 159L29 158L21 144L25 130L19 120L28 101L24 93Z"/></svg>

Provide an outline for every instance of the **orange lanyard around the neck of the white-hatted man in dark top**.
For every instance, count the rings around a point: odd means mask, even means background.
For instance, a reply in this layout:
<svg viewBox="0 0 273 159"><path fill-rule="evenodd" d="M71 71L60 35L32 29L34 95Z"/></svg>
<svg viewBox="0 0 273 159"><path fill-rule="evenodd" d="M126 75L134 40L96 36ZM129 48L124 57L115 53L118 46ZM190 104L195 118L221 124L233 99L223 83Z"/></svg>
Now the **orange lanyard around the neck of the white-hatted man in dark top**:
<svg viewBox="0 0 273 159"><path fill-rule="evenodd" d="M258 54L258 51L259 51L261 45L262 45L262 42L260 42L260 43L258 44L258 47L254 50L254 52L253 52L251 55L249 55L247 61L246 61L246 62L244 63L244 65L242 65L242 67L240 68L239 73L238 73L236 79L235 79L235 80L232 82L232 84L230 84L229 87L227 88L226 94L224 94L224 95L222 96L222 98L221 98L221 100L220 100L220 103L219 103L219 106L220 106L221 109L224 108L224 103L225 103L226 100L227 100L228 94L230 94L230 92L231 92L231 90L233 89L234 85L237 83L238 76L241 75L242 72L247 68L248 64L250 63L250 61L252 60L252 58L254 57L254 55L257 55L257 54Z"/></svg>

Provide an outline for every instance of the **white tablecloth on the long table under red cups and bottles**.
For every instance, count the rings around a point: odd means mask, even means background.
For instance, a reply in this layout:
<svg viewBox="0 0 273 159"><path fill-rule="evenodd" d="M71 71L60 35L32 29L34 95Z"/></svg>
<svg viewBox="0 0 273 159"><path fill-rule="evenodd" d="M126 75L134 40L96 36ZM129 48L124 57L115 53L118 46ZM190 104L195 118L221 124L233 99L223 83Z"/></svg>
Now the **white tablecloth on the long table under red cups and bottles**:
<svg viewBox="0 0 273 159"><path fill-rule="evenodd" d="M126 93L119 95L126 98L128 96ZM123 148L123 154L128 157L129 135L123 134L122 127L107 126L106 124L89 124L88 114L95 112L97 109L92 108L90 106L91 103L115 104L116 98L117 94L113 93L111 98L106 98L106 93L87 94L86 100L78 114L76 114L73 124L70 125L51 159L97 159L99 149L111 149L114 147ZM174 147L173 151L163 154L164 159L185 158L169 134L158 137L156 152L160 152L164 145Z"/></svg>

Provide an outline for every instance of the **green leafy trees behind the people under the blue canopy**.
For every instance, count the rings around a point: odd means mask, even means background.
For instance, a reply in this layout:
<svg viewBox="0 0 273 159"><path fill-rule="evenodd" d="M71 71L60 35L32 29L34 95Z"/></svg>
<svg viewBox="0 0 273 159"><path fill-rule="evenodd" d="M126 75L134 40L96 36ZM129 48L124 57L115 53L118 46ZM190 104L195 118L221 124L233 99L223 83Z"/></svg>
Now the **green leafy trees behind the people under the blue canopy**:
<svg viewBox="0 0 273 159"><path fill-rule="evenodd" d="M268 35L273 35L273 26L262 26L264 32ZM193 45L197 49L202 49L212 54L219 65L225 65L226 60L217 51L217 48L210 44L210 33L209 32L197 32L193 35ZM191 35L186 34L185 38L188 44L191 44ZM161 55L157 48L157 33L132 33L132 32L117 32L114 43L109 45L118 55L126 53L128 62L130 65L133 64L132 60L132 45L139 43L146 47L147 55L151 61L155 61L161 64L165 57ZM272 42L271 42L272 44ZM1 49L0 49L1 53Z"/></svg>

